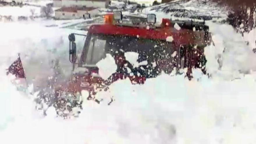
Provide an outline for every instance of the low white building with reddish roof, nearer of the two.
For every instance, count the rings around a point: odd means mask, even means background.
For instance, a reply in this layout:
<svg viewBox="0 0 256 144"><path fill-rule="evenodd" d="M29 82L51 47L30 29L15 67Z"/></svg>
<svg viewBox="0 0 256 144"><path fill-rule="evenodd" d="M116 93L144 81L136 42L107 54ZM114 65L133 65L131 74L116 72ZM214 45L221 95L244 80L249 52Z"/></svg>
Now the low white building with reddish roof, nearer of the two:
<svg viewBox="0 0 256 144"><path fill-rule="evenodd" d="M99 10L93 7L62 7L55 10L55 17L57 19L79 19L83 17L94 17L99 14Z"/></svg>

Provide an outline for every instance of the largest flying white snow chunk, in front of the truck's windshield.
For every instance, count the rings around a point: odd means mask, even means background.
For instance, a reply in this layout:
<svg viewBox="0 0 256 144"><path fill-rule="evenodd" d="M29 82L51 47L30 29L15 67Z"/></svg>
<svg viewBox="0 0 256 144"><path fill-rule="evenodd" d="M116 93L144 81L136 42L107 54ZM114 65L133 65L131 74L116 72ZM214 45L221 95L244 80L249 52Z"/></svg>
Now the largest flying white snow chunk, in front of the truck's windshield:
<svg viewBox="0 0 256 144"><path fill-rule="evenodd" d="M99 68L99 75L103 79L109 78L117 69L115 59L110 54L106 54L106 58L99 61L96 65Z"/></svg>

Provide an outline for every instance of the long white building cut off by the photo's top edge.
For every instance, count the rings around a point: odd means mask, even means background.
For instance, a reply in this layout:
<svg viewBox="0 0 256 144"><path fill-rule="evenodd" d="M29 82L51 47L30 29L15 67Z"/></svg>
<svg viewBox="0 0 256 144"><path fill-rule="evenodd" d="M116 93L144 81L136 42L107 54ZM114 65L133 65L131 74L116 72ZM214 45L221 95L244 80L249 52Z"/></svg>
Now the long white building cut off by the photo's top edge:
<svg viewBox="0 0 256 144"><path fill-rule="evenodd" d="M106 8L110 0L53 0L54 7L95 7Z"/></svg>

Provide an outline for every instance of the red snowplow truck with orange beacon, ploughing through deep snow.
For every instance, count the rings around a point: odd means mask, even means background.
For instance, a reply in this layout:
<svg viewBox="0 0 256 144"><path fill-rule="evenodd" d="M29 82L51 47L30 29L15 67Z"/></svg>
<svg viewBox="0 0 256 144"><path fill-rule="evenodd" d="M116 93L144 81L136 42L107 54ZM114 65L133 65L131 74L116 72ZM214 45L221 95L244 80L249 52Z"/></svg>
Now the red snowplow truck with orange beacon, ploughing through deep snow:
<svg viewBox="0 0 256 144"><path fill-rule="evenodd" d="M69 35L69 59L73 63L73 75L64 83L55 83L54 92L41 93L37 102L54 106L58 115L64 111L81 108L81 92L89 92L87 99L97 100L94 95L99 90L106 90L118 79L130 79L132 84L143 84L146 79L157 77L162 72L180 74L185 70L191 79L193 68L205 72L206 59L204 48L210 42L209 27L204 22L172 21L162 19L156 24L156 15L144 17L123 16L120 11L104 16L104 24L90 26L81 56L78 58L75 36ZM174 26L176 25L176 26ZM177 27L178 25L178 27ZM126 52L136 52L137 62L146 61L144 65L135 66L126 58ZM117 70L108 79L99 75L97 63L110 54L115 59Z"/></svg>

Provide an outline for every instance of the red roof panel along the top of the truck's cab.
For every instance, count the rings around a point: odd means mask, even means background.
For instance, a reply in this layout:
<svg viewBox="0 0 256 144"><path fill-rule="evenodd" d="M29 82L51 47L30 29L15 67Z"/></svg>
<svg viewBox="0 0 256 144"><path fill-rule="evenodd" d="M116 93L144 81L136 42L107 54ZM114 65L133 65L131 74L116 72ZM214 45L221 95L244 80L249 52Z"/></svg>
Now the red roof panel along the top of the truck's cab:
<svg viewBox="0 0 256 144"><path fill-rule="evenodd" d="M194 42L195 33L197 31L193 32L189 29L180 29L178 31L170 26L147 29L131 26L119 26L113 24L96 24L90 26L88 32L93 34L124 35L154 40L166 40L167 37L172 36L173 43L177 45L186 45Z"/></svg>

